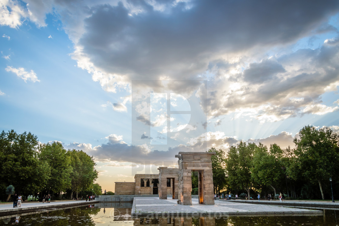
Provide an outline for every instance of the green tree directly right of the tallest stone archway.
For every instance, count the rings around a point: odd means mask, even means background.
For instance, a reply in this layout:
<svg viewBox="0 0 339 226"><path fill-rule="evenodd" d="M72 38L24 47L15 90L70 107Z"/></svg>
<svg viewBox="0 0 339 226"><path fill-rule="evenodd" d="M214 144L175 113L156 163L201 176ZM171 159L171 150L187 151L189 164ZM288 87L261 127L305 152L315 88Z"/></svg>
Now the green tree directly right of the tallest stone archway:
<svg viewBox="0 0 339 226"><path fill-rule="evenodd" d="M226 186L226 160L225 152L221 149L216 150L214 147L208 150L208 152L215 152L212 155L212 172L213 172L213 186L215 194L219 194Z"/></svg>

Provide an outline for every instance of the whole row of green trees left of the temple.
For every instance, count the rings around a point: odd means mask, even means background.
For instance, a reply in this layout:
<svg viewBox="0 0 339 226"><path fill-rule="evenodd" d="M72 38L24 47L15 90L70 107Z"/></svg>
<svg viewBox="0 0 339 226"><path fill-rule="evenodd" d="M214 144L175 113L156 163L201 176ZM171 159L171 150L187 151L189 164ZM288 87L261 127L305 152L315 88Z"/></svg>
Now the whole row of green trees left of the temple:
<svg viewBox="0 0 339 226"><path fill-rule="evenodd" d="M66 193L67 198L77 197L79 191L99 186L94 184L98 177L95 166L93 157L85 152L66 151L59 142L40 143L30 132L0 134L2 197L8 185L24 196L53 193L61 198Z"/></svg>

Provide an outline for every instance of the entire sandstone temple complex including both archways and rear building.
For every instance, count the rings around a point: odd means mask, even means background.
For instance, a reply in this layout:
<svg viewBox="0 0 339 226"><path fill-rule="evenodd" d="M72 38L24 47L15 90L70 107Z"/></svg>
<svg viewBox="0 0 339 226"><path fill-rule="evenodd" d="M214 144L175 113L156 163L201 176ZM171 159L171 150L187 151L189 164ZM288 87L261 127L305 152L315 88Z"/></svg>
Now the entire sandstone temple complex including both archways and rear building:
<svg viewBox="0 0 339 226"><path fill-rule="evenodd" d="M159 167L159 174L136 174L134 182L115 182L116 195L159 195L192 205L192 172L198 172L200 204L214 205L212 155L215 152L179 152L178 168Z"/></svg>

